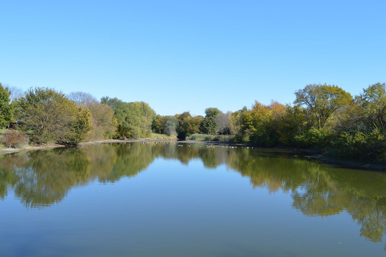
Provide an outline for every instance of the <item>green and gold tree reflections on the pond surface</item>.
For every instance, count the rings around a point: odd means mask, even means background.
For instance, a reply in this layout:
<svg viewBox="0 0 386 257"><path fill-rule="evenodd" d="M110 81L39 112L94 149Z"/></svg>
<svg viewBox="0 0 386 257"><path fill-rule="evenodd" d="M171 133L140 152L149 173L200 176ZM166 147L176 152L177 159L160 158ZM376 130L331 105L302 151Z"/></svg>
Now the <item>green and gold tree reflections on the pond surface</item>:
<svg viewBox="0 0 386 257"><path fill-rule="evenodd" d="M203 146L203 147L198 147ZM225 164L249 177L253 187L291 194L293 207L308 216L347 211L361 236L381 242L386 231L386 174L336 168L279 150L207 148L204 144L101 144L14 153L0 159L0 199L13 189L27 208L59 203L74 186L116 182L145 170L156 157L187 165L201 159L207 168Z"/></svg>

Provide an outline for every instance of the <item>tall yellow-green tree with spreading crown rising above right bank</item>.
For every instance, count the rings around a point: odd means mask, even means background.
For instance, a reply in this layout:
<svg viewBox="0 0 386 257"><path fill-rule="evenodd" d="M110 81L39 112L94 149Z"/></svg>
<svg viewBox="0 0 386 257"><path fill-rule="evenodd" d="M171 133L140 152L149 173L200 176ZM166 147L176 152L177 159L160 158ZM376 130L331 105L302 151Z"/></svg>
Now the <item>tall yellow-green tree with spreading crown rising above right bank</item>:
<svg viewBox="0 0 386 257"><path fill-rule="evenodd" d="M341 107L352 100L350 93L335 85L310 84L295 92L294 104L304 105L315 116L318 128L323 128L327 120Z"/></svg>

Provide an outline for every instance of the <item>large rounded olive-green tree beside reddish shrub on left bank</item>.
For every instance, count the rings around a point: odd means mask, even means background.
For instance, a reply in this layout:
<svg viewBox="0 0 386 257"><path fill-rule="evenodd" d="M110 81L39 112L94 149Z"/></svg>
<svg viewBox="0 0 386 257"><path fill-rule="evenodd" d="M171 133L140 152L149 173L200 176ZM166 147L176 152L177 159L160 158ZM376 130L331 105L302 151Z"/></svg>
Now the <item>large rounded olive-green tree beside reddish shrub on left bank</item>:
<svg viewBox="0 0 386 257"><path fill-rule="evenodd" d="M78 123L78 107L60 91L36 87L17 102L19 128L34 143L71 142ZM77 133L88 133L80 129ZM82 136L81 134L78 136Z"/></svg>

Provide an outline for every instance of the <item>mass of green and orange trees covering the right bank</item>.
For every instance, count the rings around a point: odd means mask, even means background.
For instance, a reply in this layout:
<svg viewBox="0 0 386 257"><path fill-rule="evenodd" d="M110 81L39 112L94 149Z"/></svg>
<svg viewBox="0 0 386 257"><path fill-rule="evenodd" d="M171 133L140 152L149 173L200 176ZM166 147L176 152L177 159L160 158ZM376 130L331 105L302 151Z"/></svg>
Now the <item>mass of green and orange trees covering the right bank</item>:
<svg viewBox="0 0 386 257"><path fill-rule="evenodd" d="M325 150L338 158L386 162L385 83L352 98L335 85L307 85L294 105L255 102L230 114L235 141L257 146L298 146Z"/></svg>

